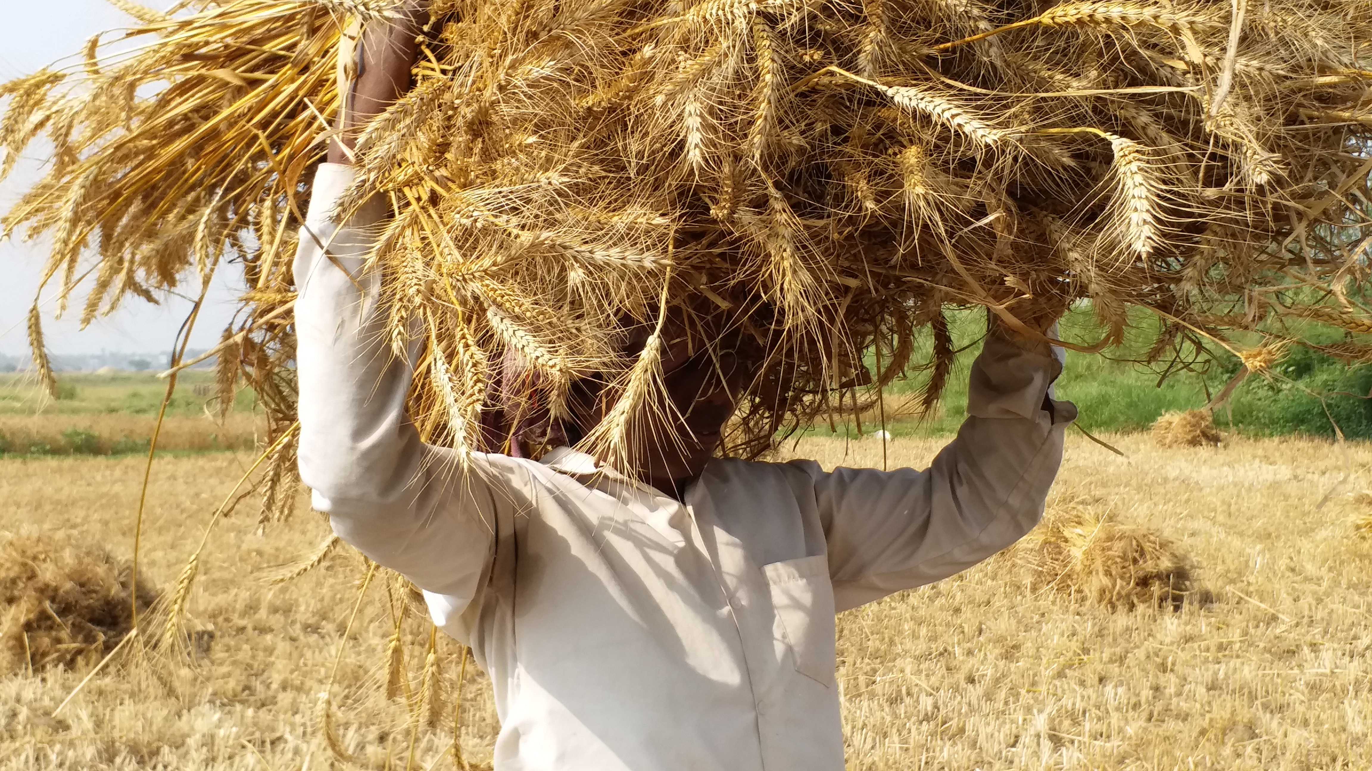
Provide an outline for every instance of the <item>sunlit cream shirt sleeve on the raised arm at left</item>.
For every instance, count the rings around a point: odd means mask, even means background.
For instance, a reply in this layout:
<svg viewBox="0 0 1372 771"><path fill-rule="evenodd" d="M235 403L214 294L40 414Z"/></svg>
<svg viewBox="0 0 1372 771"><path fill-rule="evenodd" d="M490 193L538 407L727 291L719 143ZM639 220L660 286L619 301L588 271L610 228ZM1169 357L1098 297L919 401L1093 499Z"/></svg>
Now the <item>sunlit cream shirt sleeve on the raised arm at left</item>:
<svg viewBox="0 0 1372 771"><path fill-rule="evenodd" d="M342 226L329 220L351 181L348 166L320 167L295 255L300 479L343 541L423 589L435 623L465 639L460 617L490 569L497 509L516 488L493 482L517 469L497 455L460 465L407 420L414 351L392 355L380 276L364 270L384 202Z"/></svg>

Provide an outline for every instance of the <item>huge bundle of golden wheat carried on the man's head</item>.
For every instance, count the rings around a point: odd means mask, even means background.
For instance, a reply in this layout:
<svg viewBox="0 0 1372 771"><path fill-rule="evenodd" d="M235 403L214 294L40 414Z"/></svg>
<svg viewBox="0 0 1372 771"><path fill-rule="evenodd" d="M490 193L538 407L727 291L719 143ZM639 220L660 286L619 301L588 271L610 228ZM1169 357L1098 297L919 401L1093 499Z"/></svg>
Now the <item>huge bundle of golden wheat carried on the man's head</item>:
<svg viewBox="0 0 1372 771"><path fill-rule="evenodd" d="M43 133L55 148L5 233L52 236L59 306L91 278L85 321L235 263L247 313L221 361L281 436L309 169L358 23L394 3L119 5L137 47L97 36L0 88L4 170ZM1368 266L1365 0L438 0L424 37L340 215L392 207L372 259L394 339L424 336L410 406L431 442L473 442L461 427L514 351L539 375L525 396L554 409L571 381L606 386L616 420L591 439L613 455L661 346L626 354L624 331L663 305L760 359L734 455L912 368L936 401L949 303L1015 327L1030 302L1091 296L1107 332L1089 350L1143 306L1154 359L1233 350L1233 328L1280 337L1291 314L1372 328L1350 292ZM51 381L37 307L30 335Z"/></svg>

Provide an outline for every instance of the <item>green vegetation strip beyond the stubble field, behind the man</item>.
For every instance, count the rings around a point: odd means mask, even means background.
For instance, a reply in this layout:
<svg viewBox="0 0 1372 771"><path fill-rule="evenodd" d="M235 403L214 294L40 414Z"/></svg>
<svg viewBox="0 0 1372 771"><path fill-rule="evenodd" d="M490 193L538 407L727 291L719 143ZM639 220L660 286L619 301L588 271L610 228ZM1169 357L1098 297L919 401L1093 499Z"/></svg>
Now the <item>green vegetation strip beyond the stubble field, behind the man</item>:
<svg viewBox="0 0 1372 771"><path fill-rule="evenodd" d="M985 328L980 311L958 311L949 318L954 342L960 348L943 402L921 417L919 388L926 373L893 384L885 399L885 424L896 436L948 435L958 429L967 407L967 372L980 350ZM1067 353L1067 368L1058 381L1058 396L1081 410L1083 428L1098 431L1147 429L1166 412L1203 406L1239 370L1239 359L1222 354L1191 370L1161 377L1162 365L1133 364L1151 346L1155 322L1144 313L1121 351L1098 355ZM1078 343L1095 342L1100 332L1089 309L1073 310L1062 324L1063 336ZM1298 331L1316 343L1336 343L1343 332L1320 325ZM1246 343L1255 343L1247 340ZM929 361L929 340L921 340L912 361ZM32 377L0 375L0 454L130 454L145 453L151 427L162 403L165 380L151 372L67 373L59 379L60 398L47 401ZM1251 376L1235 391L1216 421L1224 429L1249 435L1335 436L1372 439L1372 366L1349 368L1308 348L1290 348L1273 366L1270 377ZM19 423L41 409L44 425ZM167 410L176 424L159 444L169 450L206 451L246 449L255 442L255 394L239 391L229 424L207 420L214 407L213 372L185 372ZM27 417L26 417L27 416ZM99 423L96 418L108 418ZM119 420L115 420L119 418ZM864 432L881 425L877 409L863 416ZM856 434L852 424L836 425L838 434ZM826 435L829 425L809 434ZM172 439L174 438L174 439ZM167 443L172 442L172 443Z"/></svg>

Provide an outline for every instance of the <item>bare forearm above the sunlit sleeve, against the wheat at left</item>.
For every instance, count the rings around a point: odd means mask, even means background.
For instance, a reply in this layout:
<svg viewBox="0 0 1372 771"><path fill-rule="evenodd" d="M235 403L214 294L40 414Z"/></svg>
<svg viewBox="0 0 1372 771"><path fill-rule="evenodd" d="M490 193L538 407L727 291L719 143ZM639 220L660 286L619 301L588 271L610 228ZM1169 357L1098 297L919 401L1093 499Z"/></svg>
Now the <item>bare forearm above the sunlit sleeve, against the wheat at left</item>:
<svg viewBox="0 0 1372 771"><path fill-rule="evenodd" d="M428 23L431 3L410 0L395 18L375 21L362 30L357 80L343 95L339 134L329 143L329 163L351 165L362 128L410 89L410 70L418 58L418 36Z"/></svg>

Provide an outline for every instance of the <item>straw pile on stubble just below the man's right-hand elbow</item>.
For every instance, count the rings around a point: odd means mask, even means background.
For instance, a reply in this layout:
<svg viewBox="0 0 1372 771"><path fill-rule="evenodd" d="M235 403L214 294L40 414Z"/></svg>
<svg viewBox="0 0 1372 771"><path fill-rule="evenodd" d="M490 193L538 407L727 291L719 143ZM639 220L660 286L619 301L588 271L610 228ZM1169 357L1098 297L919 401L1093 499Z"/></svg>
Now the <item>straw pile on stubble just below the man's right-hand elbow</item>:
<svg viewBox="0 0 1372 771"><path fill-rule="evenodd" d="M1122 524L1100 501L1059 497L1010 557L1030 586L1106 608L1180 609L1196 597L1195 567L1177 543Z"/></svg>

